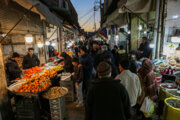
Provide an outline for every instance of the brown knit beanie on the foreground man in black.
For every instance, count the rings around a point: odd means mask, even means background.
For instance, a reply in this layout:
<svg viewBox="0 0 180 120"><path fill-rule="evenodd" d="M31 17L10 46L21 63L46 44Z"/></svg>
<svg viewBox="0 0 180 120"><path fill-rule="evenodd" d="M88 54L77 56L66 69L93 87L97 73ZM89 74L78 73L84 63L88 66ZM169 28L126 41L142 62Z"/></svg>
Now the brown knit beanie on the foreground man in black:
<svg viewBox="0 0 180 120"><path fill-rule="evenodd" d="M106 76L111 73L111 66L107 62L101 62L97 67L97 72L99 76Z"/></svg>

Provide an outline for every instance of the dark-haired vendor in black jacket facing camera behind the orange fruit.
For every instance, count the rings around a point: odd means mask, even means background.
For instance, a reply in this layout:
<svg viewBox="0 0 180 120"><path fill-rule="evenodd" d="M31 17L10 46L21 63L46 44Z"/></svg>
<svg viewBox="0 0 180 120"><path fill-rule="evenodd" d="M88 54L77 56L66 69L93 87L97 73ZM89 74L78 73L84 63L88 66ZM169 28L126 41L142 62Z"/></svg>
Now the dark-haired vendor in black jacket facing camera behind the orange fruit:
<svg viewBox="0 0 180 120"><path fill-rule="evenodd" d="M28 49L28 54L23 59L23 69L29 69L40 65L38 57L33 52L33 48Z"/></svg>

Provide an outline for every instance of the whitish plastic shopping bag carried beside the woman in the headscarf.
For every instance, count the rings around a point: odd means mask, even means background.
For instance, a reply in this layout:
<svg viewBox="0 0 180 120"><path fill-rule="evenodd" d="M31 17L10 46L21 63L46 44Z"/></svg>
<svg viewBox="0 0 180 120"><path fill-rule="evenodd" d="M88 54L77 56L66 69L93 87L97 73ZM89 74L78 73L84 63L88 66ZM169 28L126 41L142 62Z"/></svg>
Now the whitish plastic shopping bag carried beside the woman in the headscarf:
<svg viewBox="0 0 180 120"><path fill-rule="evenodd" d="M154 106L153 101L149 97L145 97L140 110L145 114L149 114L150 111L152 112L152 109L154 108L153 106Z"/></svg>

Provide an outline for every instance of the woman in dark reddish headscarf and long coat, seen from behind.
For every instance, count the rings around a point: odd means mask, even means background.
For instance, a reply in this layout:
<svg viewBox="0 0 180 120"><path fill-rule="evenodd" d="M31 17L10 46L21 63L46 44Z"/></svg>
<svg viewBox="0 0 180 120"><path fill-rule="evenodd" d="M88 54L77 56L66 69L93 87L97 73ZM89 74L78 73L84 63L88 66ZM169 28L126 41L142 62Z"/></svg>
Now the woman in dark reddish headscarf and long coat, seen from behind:
<svg viewBox="0 0 180 120"><path fill-rule="evenodd" d="M141 96L138 98L138 104L141 105L146 96L149 96L151 100L155 101L157 99L156 77L150 59L145 59L142 62L142 68L139 70L138 76L142 88Z"/></svg>

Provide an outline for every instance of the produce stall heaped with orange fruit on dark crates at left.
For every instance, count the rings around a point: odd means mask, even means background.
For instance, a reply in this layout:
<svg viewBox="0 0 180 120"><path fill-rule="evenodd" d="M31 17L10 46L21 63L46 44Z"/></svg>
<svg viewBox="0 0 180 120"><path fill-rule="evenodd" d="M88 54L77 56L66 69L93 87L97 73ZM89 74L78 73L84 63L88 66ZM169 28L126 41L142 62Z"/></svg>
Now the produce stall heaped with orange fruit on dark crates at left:
<svg viewBox="0 0 180 120"><path fill-rule="evenodd" d="M21 78L14 80L8 90L15 99L16 118L39 120L42 113L46 115L48 111L48 118L63 120L65 118L65 95L68 89L60 87L59 83L61 79L71 80L71 74L67 76L62 73L63 66L52 62L43 67L28 69ZM45 99L48 102L43 102ZM44 108L44 106L49 107Z"/></svg>

